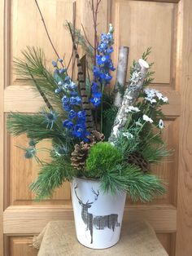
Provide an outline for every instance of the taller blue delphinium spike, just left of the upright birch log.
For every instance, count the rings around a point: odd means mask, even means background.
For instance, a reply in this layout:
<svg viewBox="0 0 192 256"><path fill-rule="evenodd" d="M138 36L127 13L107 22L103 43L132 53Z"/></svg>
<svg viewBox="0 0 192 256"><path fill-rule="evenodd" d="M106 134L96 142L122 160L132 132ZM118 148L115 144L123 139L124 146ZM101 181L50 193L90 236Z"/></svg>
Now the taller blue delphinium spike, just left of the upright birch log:
<svg viewBox="0 0 192 256"><path fill-rule="evenodd" d="M98 55L96 55L96 65L94 66L94 82L92 83L91 104L97 107L101 103L103 86L107 86L112 79L110 75L114 68L111 60L113 52L113 27L109 25L108 33L102 33L98 45Z"/></svg>

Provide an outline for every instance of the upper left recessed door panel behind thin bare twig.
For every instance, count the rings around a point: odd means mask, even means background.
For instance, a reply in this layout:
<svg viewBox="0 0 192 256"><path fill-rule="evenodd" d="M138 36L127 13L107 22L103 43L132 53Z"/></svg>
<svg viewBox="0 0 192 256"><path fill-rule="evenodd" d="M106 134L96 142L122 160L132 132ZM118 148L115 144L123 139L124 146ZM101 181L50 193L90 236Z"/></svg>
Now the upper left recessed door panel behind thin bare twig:
<svg viewBox="0 0 192 256"><path fill-rule="evenodd" d="M68 64L70 59L72 42L68 36L68 30L64 28L66 20L72 20L72 0L38 0L39 7L42 10L47 29L50 33L56 50L59 52L61 58L64 55L64 62ZM27 33L26 22L28 23ZM46 61L48 66L51 65L52 60L57 60L57 56L50 46L50 42L46 36L46 31L41 22L41 16L38 13L36 4L34 1L28 0L14 0L11 2L11 17L10 17L10 29L11 29L11 56L13 58L20 58L21 51L26 49L26 46L41 47L46 55ZM27 35L27 36L26 36ZM19 38L19 39L18 39ZM67 49L67 51L63 51ZM70 51L68 51L70 49ZM11 83L18 79L13 72L13 64L10 62ZM10 85L10 84L9 84Z"/></svg>

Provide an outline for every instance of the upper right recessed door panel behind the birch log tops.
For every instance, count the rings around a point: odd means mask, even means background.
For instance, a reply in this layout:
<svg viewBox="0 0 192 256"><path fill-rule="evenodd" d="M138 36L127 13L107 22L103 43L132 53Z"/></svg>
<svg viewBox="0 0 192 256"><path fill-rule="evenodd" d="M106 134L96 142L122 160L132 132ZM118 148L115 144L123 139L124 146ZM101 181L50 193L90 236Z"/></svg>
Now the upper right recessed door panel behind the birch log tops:
<svg viewBox="0 0 192 256"><path fill-rule="evenodd" d="M137 60L147 47L151 46L149 61L155 62L155 82L169 84L173 68L171 63L174 5L163 2L114 0L112 9L116 50L121 45L130 47L130 66L133 60ZM117 58L115 51L115 63Z"/></svg>

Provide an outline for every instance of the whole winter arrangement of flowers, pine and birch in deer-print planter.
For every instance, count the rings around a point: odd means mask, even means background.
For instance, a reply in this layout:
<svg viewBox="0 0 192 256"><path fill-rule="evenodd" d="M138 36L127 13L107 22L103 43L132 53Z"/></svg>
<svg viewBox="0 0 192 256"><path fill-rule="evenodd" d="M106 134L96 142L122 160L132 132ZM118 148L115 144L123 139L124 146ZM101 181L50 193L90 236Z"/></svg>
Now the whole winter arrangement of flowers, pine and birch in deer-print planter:
<svg viewBox="0 0 192 256"><path fill-rule="evenodd" d="M93 8L94 22L97 11ZM95 23L96 26L96 23ZM133 61L126 82L129 48L121 46L114 68L113 26L94 46L67 23L76 56L77 79L59 58L46 68L39 48L28 47L15 69L40 93L45 107L33 115L10 113L7 128L12 135L27 134L24 157L38 161L40 172L30 189L41 200L51 196L65 181L71 182L76 236L82 245L103 249L120 239L126 194L133 201L151 201L166 192L164 182L151 174L150 164L167 157L161 131L161 107L168 98L147 86L152 82L152 64ZM97 33L97 29L96 33ZM80 59L77 42L84 46ZM116 84L111 85L116 70ZM51 161L38 158L37 143L52 140Z"/></svg>

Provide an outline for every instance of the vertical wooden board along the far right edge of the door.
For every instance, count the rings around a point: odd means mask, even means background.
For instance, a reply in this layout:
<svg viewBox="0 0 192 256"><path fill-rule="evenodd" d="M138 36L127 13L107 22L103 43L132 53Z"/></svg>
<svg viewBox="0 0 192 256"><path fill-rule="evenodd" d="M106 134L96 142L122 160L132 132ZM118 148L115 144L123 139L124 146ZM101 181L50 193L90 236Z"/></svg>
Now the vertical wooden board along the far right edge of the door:
<svg viewBox="0 0 192 256"><path fill-rule="evenodd" d="M181 118L176 255L192 252L192 2L181 0Z"/></svg>

